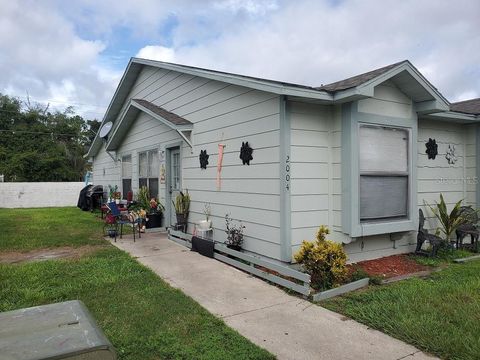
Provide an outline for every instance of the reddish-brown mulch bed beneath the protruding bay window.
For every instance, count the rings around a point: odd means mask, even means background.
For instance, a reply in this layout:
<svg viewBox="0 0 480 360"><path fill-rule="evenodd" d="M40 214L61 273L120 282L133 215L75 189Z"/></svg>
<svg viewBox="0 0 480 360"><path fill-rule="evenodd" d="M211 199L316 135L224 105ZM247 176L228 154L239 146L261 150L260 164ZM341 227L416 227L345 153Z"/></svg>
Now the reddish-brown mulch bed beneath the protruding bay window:
<svg viewBox="0 0 480 360"><path fill-rule="evenodd" d="M408 255L392 255L375 260L361 261L355 264L370 276L389 279L401 275L414 274L431 270L431 267L420 265Z"/></svg>

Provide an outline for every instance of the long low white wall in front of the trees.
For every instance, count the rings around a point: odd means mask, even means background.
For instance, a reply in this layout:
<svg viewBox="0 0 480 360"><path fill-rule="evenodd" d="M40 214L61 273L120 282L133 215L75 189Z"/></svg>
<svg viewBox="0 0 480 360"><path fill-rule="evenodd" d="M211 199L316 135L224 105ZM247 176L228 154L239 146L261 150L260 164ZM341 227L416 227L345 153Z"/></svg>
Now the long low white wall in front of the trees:
<svg viewBox="0 0 480 360"><path fill-rule="evenodd" d="M0 182L0 208L76 206L84 182Z"/></svg>

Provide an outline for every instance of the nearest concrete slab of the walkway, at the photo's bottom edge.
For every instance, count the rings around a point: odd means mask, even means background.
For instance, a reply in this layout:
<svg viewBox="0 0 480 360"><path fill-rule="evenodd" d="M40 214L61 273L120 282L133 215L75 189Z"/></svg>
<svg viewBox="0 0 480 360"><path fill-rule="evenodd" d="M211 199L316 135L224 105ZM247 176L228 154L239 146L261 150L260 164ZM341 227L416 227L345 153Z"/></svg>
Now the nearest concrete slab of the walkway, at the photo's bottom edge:
<svg viewBox="0 0 480 360"><path fill-rule="evenodd" d="M224 321L279 359L396 360L418 352L413 346L300 299Z"/></svg>

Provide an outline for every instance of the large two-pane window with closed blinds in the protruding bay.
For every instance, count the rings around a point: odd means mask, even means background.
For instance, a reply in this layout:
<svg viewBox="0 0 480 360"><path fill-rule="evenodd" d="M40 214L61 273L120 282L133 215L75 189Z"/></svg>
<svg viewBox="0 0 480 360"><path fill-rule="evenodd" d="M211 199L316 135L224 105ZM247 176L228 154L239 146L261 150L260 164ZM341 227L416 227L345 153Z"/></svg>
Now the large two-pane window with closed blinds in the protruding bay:
<svg viewBox="0 0 480 360"><path fill-rule="evenodd" d="M408 130L360 125L358 143L360 222L406 219Z"/></svg>

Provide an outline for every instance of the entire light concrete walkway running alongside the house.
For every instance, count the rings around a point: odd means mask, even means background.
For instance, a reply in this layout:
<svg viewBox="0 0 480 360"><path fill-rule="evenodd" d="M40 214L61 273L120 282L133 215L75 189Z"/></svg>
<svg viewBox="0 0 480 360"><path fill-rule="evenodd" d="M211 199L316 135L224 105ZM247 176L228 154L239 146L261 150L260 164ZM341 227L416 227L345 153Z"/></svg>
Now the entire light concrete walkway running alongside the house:
<svg viewBox="0 0 480 360"><path fill-rule="evenodd" d="M433 359L413 346L167 239L113 243L278 359Z"/></svg>

